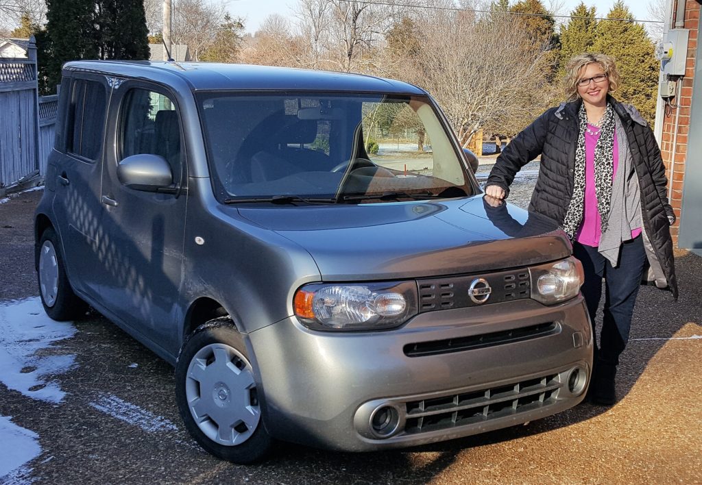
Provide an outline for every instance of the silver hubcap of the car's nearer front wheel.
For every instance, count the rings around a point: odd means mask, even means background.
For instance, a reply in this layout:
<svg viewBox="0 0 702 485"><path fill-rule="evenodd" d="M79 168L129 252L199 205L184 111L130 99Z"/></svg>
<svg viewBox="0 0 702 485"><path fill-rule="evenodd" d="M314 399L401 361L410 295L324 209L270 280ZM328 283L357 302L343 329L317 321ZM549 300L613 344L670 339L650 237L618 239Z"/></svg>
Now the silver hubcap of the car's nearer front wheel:
<svg viewBox="0 0 702 485"><path fill-rule="evenodd" d="M195 354L187 368L185 397L197 426L218 444L241 444L258 427L251 364L234 347L210 344Z"/></svg>

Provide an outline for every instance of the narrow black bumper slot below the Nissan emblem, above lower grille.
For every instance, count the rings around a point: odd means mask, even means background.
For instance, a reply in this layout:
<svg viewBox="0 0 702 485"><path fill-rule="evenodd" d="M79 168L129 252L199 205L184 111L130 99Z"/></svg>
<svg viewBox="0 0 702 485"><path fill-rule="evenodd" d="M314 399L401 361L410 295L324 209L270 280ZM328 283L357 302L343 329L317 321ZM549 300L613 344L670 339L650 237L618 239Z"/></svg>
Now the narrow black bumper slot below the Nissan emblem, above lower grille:
<svg viewBox="0 0 702 485"><path fill-rule="evenodd" d="M494 347L506 343L523 342L533 338L554 335L560 331L558 324L548 322L525 326L522 328L511 328L510 330L482 333L481 335L470 335L468 337L446 338L444 340L432 340L430 342L409 343L404 346L404 354L407 357L423 357L426 355L449 354L451 352L463 352L464 350L482 349Z"/></svg>

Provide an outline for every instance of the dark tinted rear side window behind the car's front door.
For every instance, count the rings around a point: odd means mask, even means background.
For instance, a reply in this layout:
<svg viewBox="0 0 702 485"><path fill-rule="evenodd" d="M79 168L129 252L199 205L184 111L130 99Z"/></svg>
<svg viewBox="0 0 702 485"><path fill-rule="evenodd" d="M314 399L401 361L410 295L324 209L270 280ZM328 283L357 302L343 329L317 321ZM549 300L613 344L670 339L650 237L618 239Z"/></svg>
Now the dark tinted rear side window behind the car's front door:
<svg viewBox="0 0 702 485"><path fill-rule="evenodd" d="M102 147L107 95L96 81L77 79L69 98L66 150L88 160L96 160Z"/></svg>

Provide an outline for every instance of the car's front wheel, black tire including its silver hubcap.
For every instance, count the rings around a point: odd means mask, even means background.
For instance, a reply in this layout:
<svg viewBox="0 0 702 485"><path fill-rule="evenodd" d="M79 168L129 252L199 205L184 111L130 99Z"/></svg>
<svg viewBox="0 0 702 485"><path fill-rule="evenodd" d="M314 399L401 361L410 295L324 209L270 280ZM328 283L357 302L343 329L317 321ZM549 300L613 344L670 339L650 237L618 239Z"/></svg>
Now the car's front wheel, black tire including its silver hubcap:
<svg viewBox="0 0 702 485"><path fill-rule="evenodd" d="M264 458L265 430L253 367L229 317L199 326L176 363L176 401L188 432L206 451L233 463Z"/></svg>

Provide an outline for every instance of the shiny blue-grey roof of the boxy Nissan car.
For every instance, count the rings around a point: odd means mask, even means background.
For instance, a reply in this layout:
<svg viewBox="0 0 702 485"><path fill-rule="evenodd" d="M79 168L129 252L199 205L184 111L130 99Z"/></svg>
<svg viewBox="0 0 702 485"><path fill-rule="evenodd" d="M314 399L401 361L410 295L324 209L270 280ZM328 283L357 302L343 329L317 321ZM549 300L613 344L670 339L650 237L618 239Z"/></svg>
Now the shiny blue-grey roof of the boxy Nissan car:
<svg viewBox="0 0 702 485"><path fill-rule="evenodd" d="M425 91L393 79L313 71L291 67L270 67L216 62L152 62L124 60L81 60L67 62L65 72L93 72L114 77L148 79L172 84L183 79L193 91L356 91L425 95Z"/></svg>

